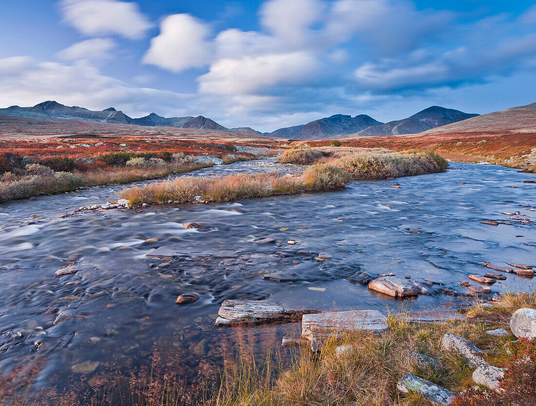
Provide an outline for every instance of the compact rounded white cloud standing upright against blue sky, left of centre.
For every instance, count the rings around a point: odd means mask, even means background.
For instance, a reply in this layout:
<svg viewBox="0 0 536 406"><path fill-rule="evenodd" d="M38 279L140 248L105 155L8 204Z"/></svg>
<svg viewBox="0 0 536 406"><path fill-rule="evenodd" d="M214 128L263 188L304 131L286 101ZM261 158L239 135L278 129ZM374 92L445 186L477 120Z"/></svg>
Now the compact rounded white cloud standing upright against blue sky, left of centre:
<svg viewBox="0 0 536 406"><path fill-rule="evenodd" d="M143 62L173 72L202 67L213 54L209 35L209 26L189 14L169 16L160 25L160 35L151 40Z"/></svg>

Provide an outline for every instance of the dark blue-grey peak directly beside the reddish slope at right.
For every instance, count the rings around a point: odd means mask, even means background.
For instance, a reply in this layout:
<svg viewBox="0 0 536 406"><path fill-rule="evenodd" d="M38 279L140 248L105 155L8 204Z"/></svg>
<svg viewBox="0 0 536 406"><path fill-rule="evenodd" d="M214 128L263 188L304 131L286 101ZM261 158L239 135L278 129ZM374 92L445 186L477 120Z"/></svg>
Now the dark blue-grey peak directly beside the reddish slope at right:
<svg viewBox="0 0 536 406"><path fill-rule="evenodd" d="M393 136L400 134L416 134L423 131L440 127L446 124L463 121L467 118L476 117L478 114L464 113L463 111L446 109L440 106L432 106L402 120L390 121L382 125L369 127L356 132L348 138L354 137L378 137Z"/></svg>

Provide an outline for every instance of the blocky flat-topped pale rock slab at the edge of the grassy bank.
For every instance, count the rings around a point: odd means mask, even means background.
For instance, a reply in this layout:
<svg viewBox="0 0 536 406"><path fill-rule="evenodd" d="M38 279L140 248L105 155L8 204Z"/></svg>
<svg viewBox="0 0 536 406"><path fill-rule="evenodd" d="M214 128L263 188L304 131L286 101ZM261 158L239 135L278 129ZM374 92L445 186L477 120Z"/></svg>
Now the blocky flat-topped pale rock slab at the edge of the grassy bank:
<svg viewBox="0 0 536 406"><path fill-rule="evenodd" d="M389 328L386 321L385 316L377 310L305 314L302 317L302 338L309 340L311 349L317 351L322 341L329 337L340 338L345 332L355 330L384 332Z"/></svg>

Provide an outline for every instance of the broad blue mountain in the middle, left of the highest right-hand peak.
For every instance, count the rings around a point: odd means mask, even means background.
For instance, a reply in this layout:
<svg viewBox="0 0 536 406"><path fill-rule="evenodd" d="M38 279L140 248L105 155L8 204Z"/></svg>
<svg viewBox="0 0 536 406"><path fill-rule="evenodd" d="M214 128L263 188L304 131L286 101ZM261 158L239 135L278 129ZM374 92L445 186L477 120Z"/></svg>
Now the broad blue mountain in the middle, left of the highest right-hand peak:
<svg viewBox="0 0 536 406"><path fill-rule="evenodd" d="M382 124L374 118L361 114L346 116L336 114L303 125L286 127L266 134L270 137L293 138L297 140L322 140L343 136ZM340 138L340 137L339 137Z"/></svg>

